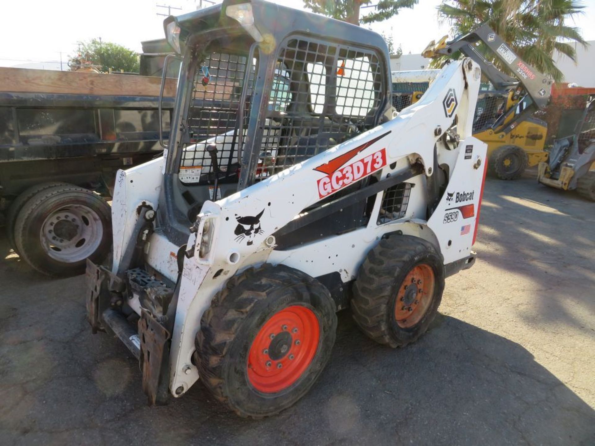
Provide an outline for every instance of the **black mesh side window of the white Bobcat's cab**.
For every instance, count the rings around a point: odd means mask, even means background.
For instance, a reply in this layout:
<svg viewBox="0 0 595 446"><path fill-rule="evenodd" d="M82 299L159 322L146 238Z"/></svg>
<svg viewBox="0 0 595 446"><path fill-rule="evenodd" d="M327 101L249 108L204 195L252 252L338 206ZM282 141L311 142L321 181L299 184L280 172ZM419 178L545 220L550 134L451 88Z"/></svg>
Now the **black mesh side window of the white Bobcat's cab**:
<svg viewBox="0 0 595 446"><path fill-rule="evenodd" d="M289 104L273 100L265 119L256 179L273 175L375 127L382 65L374 51L290 38L277 63L289 78ZM281 98L273 83L271 98Z"/></svg>

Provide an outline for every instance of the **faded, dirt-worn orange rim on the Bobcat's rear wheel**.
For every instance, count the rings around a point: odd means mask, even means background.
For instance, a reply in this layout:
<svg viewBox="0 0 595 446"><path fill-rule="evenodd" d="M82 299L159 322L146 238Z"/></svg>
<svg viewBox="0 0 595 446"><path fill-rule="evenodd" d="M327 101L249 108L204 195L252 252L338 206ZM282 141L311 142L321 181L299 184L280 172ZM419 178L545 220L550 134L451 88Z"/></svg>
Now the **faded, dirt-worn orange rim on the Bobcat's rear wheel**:
<svg viewBox="0 0 595 446"><path fill-rule="evenodd" d="M434 270L422 263L414 266L403 280L394 303L394 319L401 328L421 321L434 295Z"/></svg>

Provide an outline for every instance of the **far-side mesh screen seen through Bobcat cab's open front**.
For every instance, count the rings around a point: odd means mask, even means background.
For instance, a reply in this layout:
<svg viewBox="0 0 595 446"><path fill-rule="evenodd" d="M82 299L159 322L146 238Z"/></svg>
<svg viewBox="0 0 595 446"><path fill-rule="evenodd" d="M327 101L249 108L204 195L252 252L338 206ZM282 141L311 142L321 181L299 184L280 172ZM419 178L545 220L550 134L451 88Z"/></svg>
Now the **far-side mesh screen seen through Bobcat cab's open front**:
<svg viewBox="0 0 595 446"><path fill-rule="evenodd" d="M245 84L246 70L248 82ZM209 55L196 71L187 124L190 143L184 145L180 165L180 181L186 184L206 183L214 179L211 157L206 145L217 145L221 169L220 181L237 181L237 143L240 106L243 106L243 129L248 126L250 99L256 61L247 56ZM240 105L242 90L245 103Z"/></svg>

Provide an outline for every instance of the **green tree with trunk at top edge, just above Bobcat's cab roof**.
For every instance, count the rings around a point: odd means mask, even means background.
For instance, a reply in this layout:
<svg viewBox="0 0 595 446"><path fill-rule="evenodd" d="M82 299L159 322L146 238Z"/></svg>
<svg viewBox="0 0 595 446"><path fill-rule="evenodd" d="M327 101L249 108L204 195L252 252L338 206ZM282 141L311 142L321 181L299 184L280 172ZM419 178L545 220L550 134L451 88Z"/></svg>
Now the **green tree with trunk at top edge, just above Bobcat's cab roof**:
<svg viewBox="0 0 595 446"><path fill-rule="evenodd" d="M305 7L318 14L343 20L354 25L383 21L399 14L400 8L413 8L418 0L380 0L374 11L360 17L362 8L367 8L372 0L303 0Z"/></svg>

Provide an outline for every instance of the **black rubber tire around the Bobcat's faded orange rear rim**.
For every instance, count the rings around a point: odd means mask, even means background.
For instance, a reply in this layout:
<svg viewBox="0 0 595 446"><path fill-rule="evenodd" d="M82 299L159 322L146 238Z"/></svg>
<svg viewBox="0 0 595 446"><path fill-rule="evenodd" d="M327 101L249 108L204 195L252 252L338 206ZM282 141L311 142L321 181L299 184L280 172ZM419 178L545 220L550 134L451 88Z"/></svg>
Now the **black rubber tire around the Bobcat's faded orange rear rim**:
<svg viewBox="0 0 595 446"><path fill-rule="evenodd" d="M419 298L414 303L403 303L397 297L406 285L405 279L416 267L415 271L423 268L429 273L431 270L432 291L427 293L424 300ZM417 286L414 284L415 290L411 290L417 291ZM428 329L438 312L443 290L443 260L433 244L411 235L393 235L380 240L359 269L351 300L353 319L377 343L393 348L405 347ZM411 297L409 294L408 299ZM412 294L412 299L415 296ZM421 304L418 305L418 302ZM405 307L405 304L411 306ZM412 306L415 309L412 310ZM409 323L407 319L397 320L397 312L400 314L403 311L413 311Z"/></svg>

